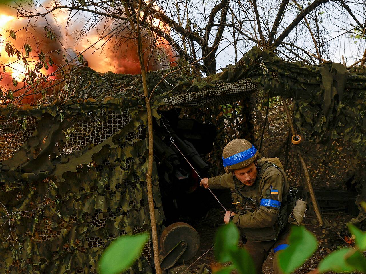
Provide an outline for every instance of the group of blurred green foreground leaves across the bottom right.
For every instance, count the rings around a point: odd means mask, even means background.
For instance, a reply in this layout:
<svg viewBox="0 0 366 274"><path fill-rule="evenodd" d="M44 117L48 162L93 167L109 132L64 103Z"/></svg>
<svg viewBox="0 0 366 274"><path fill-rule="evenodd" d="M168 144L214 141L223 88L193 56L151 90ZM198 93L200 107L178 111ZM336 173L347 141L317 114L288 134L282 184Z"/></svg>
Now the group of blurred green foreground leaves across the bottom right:
<svg viewBox="0 0 366 274"><path fill-rule="evenodd" d="M366 250L366 232L348 225L353 237L355 238L355 248L343 248L334 251L326 256L318 265L318 272L328 271L351 272L361 271L366 273L366 257L362 251ZM231 273L238 270L239 273L255 273L253 261L245 249L238 248L239 230L229 223L221 227L215 237L215 256L220 263L232 262L217 273ZM289 238L290 246L285 250L278 251L278 260L282 273L292 273L306 262L317 249L318 243L310 231L305 227L292 227Z"/></svg>

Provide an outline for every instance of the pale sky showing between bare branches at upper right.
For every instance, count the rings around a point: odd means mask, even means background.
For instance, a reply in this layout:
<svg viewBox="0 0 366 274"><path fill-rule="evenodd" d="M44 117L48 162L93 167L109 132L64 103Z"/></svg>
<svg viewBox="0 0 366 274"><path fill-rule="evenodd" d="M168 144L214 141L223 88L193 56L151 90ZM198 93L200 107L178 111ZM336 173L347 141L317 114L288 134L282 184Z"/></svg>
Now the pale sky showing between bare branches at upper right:
<svg viewBox="0 0 366 274"><path fill-rule="evenodd" d="M163 2L164 0L159 0L159 4L164 6ZM293 4L294 1L289 1L289 3ZM300 2L300 1L299 1ZM305 5L308 3L305 1ZM184 3L178 2L176 0L176 3L180 5L180 19L184 18L183 10L184 10ZM206 18L208 17L209 11L212 9L213 5L216 4L216 1L213 0L192 0L188 1L188 3L191 3L191 5L188 5L187 9L189 11L190 20L192 23L195 23L199 27L203 27L205 25L205 17L202 16L204 8L208 11L206 12ZM232 0L231 3L235 3L234 0ZM242 4L245 2L242 2ZM280 1L272 0L272 1L260 1L257 0L257 4L259 7L259 14L261 16L262 22L266 18L274 18L276 16L276 12L278 10ZM354 12L356 18L360 22L365 22L365 14L366 14L366 2L363 4L355 4L351 5L350 9L352 12ZM362 1L360 1L362 3ZM244 4L245 5L245 4ZM251 8L250 5L247 6L247 8ZM305 8L303 6L302 8ZM364 53L364 50L366 48L366 40L365 39L354 39L351 37L352 32L346 33L348 30L351 30L353 27L350 26L350 24L357 25L352 19L350 15L344 12L344 8L339 7L339 5L336 4L336 2L328 2L324 5L322 5L320 8L318 8L318 13L321 14L321 24L324 28L324 38L326 42L326 45L329 49L328 56L325 56L325 61L331 60L333 62L341 62L343 63L342 56L344 57L344 61L346 62L347 66L350 66L354 64L355 61L358 61L360 58L362 58L362 55ZM244 12L240 11L240 9L237 9L236 16L242 15ZM294 19L294 17L299 14L298 9L294 5L288 7L288 11L285 13L285 16L283 18L283 24L280 24L279 32L281 32L285 27L288 26ZM174 15L175 20L177 21L178 18L176 15ZM314 24L312 22L312 18L310 15L306 16L308 22L310 22L310 27L313 28ZM183 20L183 19L182 19ZM247 34L253 35L253 20L254 18L246 18L246 23L244 25L243 31ZM231 23L231 18L227 18L227 22ZM183 20L183 26L186 23L186 21ZM254 24L255 27L255 24ZM269 33L270 28L272 27L272 24L268 27L267 25L262 23L262 30L264 33ZM267 29L268 28L268 29ZM304 30L305 28L305 30ZM312 31L315 33L314 29ZM178 38L177 34L175 35L176 38ZM299 24L298 29L294 29L289 35L288 40L290 41L296 41L296 45L301 46L305 50L309 50L310 54L316 54L316 51L314 50L314 43L311 40L311 36L309 31L306 29L304 20L302 20L302 23ZM217 56L217 68L223 68L227 64L232 64L235 62L235 48L232 44L233 38L230 34L224 33L224 39L221 42L221 45L219 46L219 49L217 52L220 52L220 54ZM251 49L252 46L254 46L255 43L249 43L249 44L243 44L238 43L237 50L241 52L238 53L238 59L243 55L243 53L247 52ZM300 56L305 56L305 53L298 52ZM284 56L281 56L285 58Z"/></svg>

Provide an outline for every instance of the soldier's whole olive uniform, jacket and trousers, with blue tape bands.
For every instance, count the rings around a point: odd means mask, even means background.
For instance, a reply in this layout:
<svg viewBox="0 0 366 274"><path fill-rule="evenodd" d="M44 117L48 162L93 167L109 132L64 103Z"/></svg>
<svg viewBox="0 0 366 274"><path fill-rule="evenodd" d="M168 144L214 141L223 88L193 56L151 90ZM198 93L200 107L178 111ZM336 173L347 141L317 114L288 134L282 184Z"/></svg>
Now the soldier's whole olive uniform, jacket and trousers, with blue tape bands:
<svg viewBox="0 0 366 274"><path fill-rule="evenodd" d="M287 214L290 186L278 158L262 158L257 161L257 167L257 178L252 186L241 183L233 172L209 178L208 183L210 189L230 189L236 209L232 221L242 235L245 234L247 243L243 247L253 257L257 272L262 273L270 250L288 246L290 225L283 216ZM273 268L274 273L280 273L276 255Z"/></svg>

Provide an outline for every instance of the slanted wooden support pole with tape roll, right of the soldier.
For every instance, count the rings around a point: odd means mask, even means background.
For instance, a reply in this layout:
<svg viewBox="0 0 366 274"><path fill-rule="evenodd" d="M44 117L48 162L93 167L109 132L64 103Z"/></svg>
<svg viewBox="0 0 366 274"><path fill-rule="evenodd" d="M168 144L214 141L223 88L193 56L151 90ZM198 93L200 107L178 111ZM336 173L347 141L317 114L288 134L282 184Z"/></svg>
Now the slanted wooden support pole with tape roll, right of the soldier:
<svg viewBox="0 0 366 274"><path fill-rule="evenodd" d="M286 104L285 99L282 96L281 96L281 99L282 99L283 107L285 108L285 111L286 111L287 121L288 121L288 124L290 125L291 133L292 133L292 135L295 135L296 133L295 133L295 129L294 129L294 124L292 123L290 111L288 110L288 107L287 107L287 104ZM307 170L307 165L306 165L306 163L305 163L304 158L302 157L302 155L301 154L298 154L298 157L300 159L301 167L302 167L302 169L304 171L304 175L305 175L305 179L306 179L306 184L307 184L307 188L309 189L310 198L311 198L311 202L313 203L315 215L317 217L319 226L322 226L324 223L323 223L323 219L321 217L321 213L320 213L320 210L319 210L319 206L318 206L318 203L317 203L317 199L315 197L315 193L314 193L314 190L313 190L313 186L311 185L309 170Z"/></svg>

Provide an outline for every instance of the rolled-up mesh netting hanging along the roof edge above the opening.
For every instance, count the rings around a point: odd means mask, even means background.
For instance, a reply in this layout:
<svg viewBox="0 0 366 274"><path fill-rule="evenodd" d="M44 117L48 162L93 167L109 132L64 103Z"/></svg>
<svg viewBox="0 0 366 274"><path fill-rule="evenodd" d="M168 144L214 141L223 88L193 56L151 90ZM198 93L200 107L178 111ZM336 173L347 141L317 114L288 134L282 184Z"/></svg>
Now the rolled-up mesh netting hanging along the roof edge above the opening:
<svg viewBox="0 0 366 274"><path fill-rule="evenodd" d="M217 86L196 92L173 92L171 97L164 99L164 103L175 107L210 107L236 102L257 90L257 85L249 78L235 83L218 81Z"/></svg>

